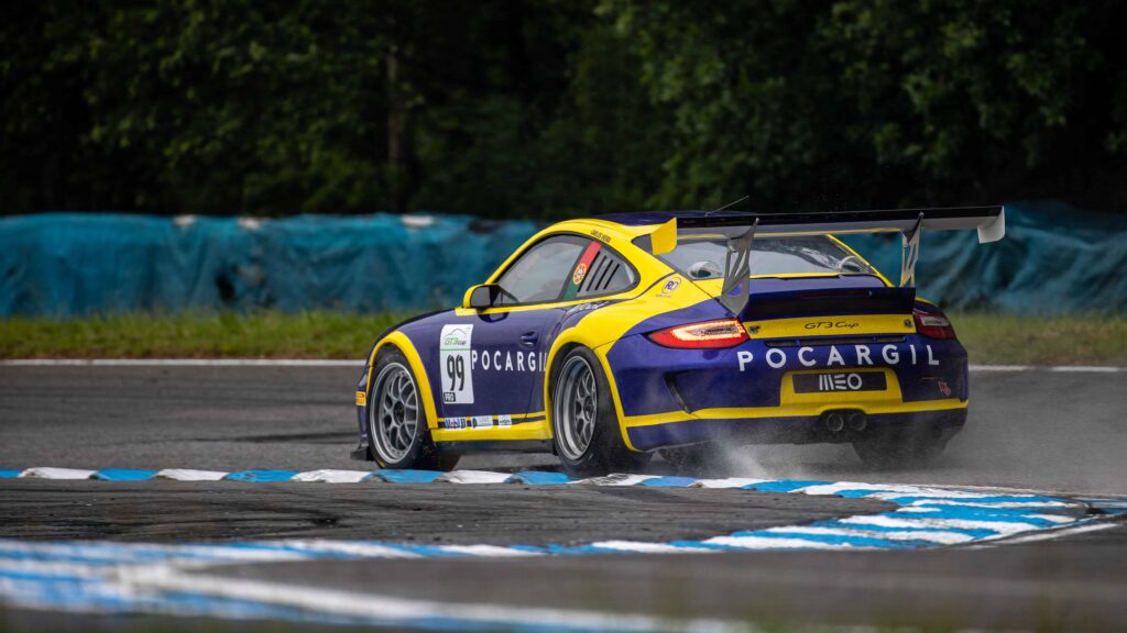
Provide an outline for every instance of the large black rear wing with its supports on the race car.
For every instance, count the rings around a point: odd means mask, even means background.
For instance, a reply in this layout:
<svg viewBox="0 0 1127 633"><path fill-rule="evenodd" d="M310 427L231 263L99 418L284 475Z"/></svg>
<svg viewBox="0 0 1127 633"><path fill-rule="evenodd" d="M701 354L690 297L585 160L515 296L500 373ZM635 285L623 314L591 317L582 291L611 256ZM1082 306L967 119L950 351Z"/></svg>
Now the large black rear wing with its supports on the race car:
<svg viewBox="0 0 1127 633"><path fill-rule="evenodd" d="M888 211L834 211L818 213L749 213L695 212L653 214L666 222L651 240L655 255L672 250L677 229L747 226L747 231L728 239L724 291L718 297L733 314L739 314L748 301L752 241L756 235L824 235L829 233L886 233L903 235L900 252L900 286L915 285L915 266L920 259L920 234L924 231L978 232L978 242L996 242L1005 237L1005 209L1001 206L967 206L955 208L903 208ZM664 216L658 219L659 216ZM672 246L669 246L672 244Z"/></svg>

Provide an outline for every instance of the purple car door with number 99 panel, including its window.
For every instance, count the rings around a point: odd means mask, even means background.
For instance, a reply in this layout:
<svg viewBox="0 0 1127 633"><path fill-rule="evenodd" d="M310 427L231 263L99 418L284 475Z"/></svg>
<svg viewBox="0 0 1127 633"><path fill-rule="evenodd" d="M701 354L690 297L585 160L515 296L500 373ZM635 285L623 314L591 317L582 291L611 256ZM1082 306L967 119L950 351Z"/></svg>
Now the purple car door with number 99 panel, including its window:
<svg viewBox="0 0 1127 633"><path fill-rule="evenodd" d="M469 318L468 329L447 326L455 346L464 346L440 358L444 426L507 427L543 420L542 408L530 411L529 401L543 384L545 335L562 314L560 301L589 243L574 234L536 242L497 278L503 291L497 306Z"/></svg>

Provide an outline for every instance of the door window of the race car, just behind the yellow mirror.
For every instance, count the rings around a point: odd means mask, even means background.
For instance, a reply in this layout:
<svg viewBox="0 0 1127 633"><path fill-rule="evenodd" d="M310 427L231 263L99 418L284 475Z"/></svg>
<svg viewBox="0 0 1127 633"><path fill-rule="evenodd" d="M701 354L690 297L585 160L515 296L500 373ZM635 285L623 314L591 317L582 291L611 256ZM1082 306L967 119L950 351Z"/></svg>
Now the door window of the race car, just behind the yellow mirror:
<svg viewBox="0 0 1127 633"><path fill-rule="evenodd" d="M577 235L557 235L525 251L497 280L505 291L502 304L542 303L559 298L564 285L570 280L576 260L589 241Z"/></svg>

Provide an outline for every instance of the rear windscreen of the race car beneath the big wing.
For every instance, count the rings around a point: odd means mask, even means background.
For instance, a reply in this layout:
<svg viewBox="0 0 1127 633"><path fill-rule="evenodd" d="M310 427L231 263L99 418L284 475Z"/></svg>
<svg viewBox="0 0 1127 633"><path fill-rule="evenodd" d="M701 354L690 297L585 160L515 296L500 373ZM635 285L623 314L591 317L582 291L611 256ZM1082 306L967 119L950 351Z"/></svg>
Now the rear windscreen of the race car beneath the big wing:
<svg viewBox="0 0 1127 633"><path fill-rule="evenodd" d="M658 256L691 279L724 277L728 238L743 228L690 229L678 233L677 248ZM649 237L639 238L648 242ZM644 244L638 244L644 246ZM752 242L752 275L872 275L866 261L826 235L763 237Z"/></svg>

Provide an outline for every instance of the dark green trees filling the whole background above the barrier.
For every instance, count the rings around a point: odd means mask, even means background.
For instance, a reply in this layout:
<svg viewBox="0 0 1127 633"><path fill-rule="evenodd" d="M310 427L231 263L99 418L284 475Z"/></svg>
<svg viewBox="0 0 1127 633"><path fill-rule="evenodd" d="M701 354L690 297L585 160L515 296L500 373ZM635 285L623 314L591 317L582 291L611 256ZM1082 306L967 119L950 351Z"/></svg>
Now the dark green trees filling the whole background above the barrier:
<svg viewBox="0 0 1127 633"><path fill-rule="evenodd" d="M2 213L1127 208L1127 3L43 0Z"/></svg>

